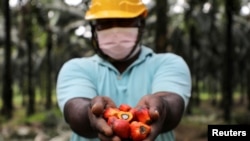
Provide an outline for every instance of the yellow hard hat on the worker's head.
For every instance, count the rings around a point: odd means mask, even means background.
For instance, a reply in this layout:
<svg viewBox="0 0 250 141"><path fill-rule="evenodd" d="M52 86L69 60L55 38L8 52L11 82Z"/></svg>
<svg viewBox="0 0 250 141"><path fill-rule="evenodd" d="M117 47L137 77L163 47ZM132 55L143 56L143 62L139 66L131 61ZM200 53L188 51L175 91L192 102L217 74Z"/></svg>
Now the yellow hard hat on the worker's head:
<svg viewBox="0 0 250 141"><path fill-rule="evenodd" d="M141 0L92 0L85 19L146 17L147 11Z"/></svg>

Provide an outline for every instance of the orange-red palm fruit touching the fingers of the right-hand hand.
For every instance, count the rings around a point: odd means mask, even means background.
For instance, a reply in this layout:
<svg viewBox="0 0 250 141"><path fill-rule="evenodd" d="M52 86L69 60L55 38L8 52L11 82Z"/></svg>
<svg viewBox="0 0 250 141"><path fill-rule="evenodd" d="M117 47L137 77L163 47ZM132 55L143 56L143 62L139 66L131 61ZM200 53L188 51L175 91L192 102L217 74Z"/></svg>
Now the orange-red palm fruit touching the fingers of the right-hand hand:
<svg viewBox="0 0 250 141"><path fill-rule="evenodd" d="M142 123L150 124L151 118L149 115L149 111L147 108L139 108L135 110L134 115L136 116L137 121L140 121Z"/></svg>

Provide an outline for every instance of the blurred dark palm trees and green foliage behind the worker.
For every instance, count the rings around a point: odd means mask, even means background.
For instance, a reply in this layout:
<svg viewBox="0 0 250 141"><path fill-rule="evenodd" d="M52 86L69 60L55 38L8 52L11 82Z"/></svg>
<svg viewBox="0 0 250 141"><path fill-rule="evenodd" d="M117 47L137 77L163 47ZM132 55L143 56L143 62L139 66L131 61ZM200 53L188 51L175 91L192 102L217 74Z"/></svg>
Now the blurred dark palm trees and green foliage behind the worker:
<svg viewBox="0 0 250 141"><path fill-rule="evenodd" d="M250 124L250 1L143 2L149 15L142 43L158 53L176 53L190 67L186 117L199 115L203 124L219 119ZM55 98L58 71L70 58L94 53L84 20L88 5L88 0L0 2L0 140L1 133L12 133L7 125L55 127L63 121Z"/></svg>

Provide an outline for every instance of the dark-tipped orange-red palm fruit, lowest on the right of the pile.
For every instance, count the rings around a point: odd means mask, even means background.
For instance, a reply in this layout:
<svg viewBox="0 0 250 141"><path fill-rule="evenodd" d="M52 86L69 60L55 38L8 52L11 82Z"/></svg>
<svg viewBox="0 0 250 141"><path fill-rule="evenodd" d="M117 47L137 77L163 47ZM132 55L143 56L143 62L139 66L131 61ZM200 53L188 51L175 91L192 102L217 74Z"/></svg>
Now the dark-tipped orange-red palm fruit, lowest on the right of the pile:
<svg viewBox="0 0 250 141"><path fill-rule="evenodd" d="M130 137L133 141L142 141L151 131L151 127L142 122L133 121L130 124Z"/></svg>

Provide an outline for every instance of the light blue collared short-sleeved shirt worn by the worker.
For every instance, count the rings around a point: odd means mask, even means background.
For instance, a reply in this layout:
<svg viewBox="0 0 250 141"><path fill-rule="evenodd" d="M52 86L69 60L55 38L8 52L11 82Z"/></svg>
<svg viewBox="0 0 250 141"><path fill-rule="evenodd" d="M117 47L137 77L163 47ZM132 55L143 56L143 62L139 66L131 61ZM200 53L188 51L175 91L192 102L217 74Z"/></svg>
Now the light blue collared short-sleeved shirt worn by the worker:
<svg viewBox="0 0 250 141"><path fill-rule="evenodd" d="M180 95L185 107L191 96L191 76L186 62L176 54L156 54L142 46L139 58L122 74L98 55L75 58L61 68L57 80L57 99L63 112L66 102L75 97L108 96L116 105L132 107L147 94L167 91ZM71 141L99 141L73 133ZM173 131L156 141L174 141Z"/></svg>

